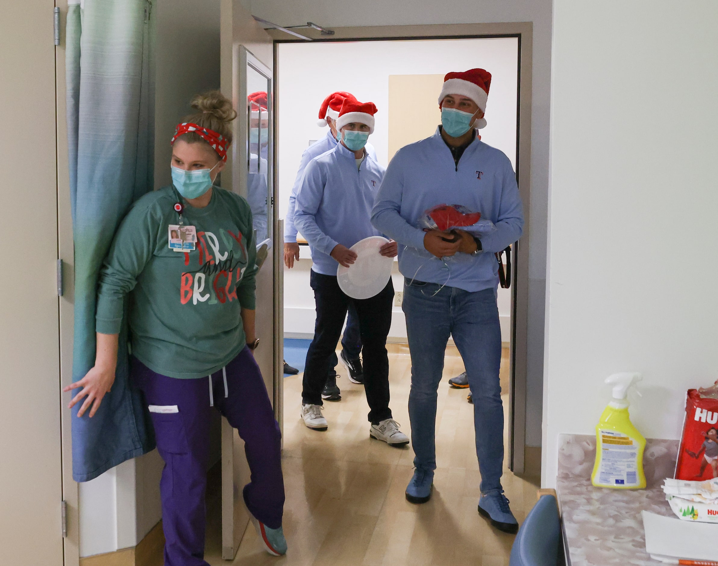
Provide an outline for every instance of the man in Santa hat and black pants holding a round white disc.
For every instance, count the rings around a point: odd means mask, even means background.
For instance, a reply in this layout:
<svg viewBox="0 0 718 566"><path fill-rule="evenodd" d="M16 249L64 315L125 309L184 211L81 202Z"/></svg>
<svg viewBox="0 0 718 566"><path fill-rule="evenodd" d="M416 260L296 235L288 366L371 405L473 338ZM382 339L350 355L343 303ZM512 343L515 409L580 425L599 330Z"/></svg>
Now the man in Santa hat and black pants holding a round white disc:
<svg viewBox="0 0 718 566"><path fill-rule="evenodd" d="M409 438L398 429L389 409L386 337L394 297L391 277L381 292L361 300L349 297L337 282L339 265L349 267L357 259L350 247L364 238L380 235L371 225L370 216L384 168L365 150L374 130L375 113L376 106L370 102L346 99L342 103L337 118L340 142L309 162L297 193L294 222L312 251L311 284L317 304L314 339L304 366L302 419L309 428L327 430L320 393L348 305L353 304L363 344L369 435L389 445L404 446L409 444ZM396 256L396 242L384 244L380 253Z"/></svg>

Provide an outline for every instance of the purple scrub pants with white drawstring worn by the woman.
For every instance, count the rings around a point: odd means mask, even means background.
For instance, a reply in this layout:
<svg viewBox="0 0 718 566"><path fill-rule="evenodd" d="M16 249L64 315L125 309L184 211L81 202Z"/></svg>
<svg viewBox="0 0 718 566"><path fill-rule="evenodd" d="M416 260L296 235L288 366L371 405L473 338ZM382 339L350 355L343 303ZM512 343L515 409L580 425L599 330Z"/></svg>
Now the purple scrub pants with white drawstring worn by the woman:
<svg viewBox="0 0 718 566"><path fill-rule="evenodd" d="M254 356L244 348L210 378L175 379L156 374L131 358L134 384L144 392L157 450L164 460L162 496L165 566L208 566L205 562L205 489L210 446L210 411L217 409L245 442L251 481L244 486L247 508L259 521L281 526L284 479L281 435ZM174 412L174 406L177 412Z"/></svg>

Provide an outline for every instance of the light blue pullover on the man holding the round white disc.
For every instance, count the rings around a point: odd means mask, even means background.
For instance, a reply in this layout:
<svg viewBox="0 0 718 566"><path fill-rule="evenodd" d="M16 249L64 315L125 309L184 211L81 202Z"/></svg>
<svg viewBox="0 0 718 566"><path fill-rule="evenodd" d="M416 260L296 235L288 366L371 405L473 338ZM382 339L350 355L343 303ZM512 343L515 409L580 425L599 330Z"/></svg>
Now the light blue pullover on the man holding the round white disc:
<svg viewBox="0 0 718 566"><path fill-rule="evenodd" d="M350 248L381 235L370 217L383 176L384 168L369 152L357 170L354 152L342 144L309 161L297 193L294 223L309 242L314 272L337 274L339 264L330 256L337 243Z"/></svg>

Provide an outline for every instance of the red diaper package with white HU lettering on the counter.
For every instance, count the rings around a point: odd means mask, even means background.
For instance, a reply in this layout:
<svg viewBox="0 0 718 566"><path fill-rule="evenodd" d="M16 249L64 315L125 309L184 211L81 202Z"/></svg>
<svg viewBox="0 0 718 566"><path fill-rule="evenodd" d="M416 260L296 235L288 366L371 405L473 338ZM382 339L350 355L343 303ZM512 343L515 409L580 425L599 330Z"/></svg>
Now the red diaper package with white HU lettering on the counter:
<svg viewBox="0 0 718 566"><path fill-rule="evenodd" d="M689 389L675 478L718 478L718 381L706 389Z"/></svg>

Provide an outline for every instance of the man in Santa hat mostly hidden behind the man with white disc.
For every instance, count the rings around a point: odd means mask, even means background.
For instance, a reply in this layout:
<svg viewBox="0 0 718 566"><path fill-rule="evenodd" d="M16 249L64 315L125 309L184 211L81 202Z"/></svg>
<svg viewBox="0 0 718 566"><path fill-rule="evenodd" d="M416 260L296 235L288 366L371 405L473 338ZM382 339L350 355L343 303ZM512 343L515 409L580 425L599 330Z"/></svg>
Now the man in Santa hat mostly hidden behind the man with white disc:
<svg viewBox="0 0 718 566"><path fill-rule="evenodd" d="M289 195L289 207L286 210L286 217L284 218L284 264L287 266L287 269L292 269L292 267L294 267L294 261L299 259L297 228L294 226L294 203L297 200L299 187L302 186L304 170L307 168L309 161L314 159L314 157L319 157L321 154L336 147L336 120L339 117L339 112L342 109L342 103L345 98L356 100L351 93L343 91L331 93L324 99L319 110L319 121L317 121L317 124L322 127L329 126L329 131L326 136L317 142L314 142L309 146L309 148L304 150L304 153L302 153L302 160L299 162L297 177L294 180L294 186L292 186L292 192ZM366 144L365 149L367 153L376 160L376 152L374 151L373 146L371 144ZM355 384L363 383L361 359L359 357L360 353L361 337L359 335L359 322L354 306L349 305L347 326L344 330L344 336L342 337L342 353L340 356L342 364L349 372L349 381ZM332 368L327 373L327 381L324 389L322 390L322 399L327 401L339 401L342 398L341 391L337 386L337 372L334 370L337 362L338 359L335 354L334 363L332 363ZM285 373L289 372L285 371ZM298 371L295 370L292 373L297 374Z"/></svg>

